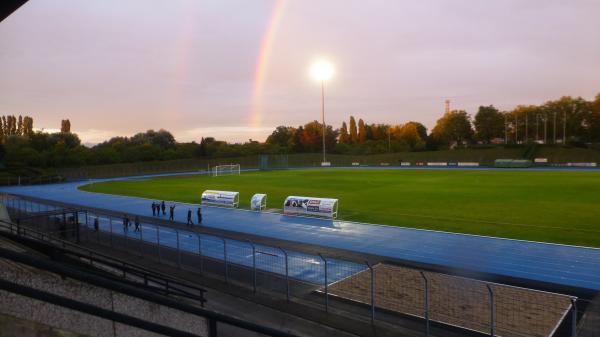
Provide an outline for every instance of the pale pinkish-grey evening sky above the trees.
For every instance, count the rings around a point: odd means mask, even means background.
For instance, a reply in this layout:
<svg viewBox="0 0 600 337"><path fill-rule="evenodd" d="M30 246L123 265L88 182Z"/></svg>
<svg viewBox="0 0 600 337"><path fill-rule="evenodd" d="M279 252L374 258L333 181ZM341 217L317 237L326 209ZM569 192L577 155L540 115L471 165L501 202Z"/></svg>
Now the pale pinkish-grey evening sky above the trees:
<svg viewBox="0 0 600 337"><path fill-rule="evenodd" d="M0 115L84 143L167 129L264 141L326 122L435 125L600 92L597 0L36 0L0 22Z"/></svg>

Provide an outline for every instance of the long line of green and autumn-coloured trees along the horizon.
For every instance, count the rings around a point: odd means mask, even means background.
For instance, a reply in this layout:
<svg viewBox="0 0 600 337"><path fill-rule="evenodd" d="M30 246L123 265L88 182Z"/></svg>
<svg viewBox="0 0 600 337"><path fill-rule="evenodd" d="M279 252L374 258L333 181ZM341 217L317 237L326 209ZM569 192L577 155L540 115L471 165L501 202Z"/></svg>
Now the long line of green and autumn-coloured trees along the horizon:
<svg viewBox="0 0 600 337"><path fill-rule="evenodd" d="M188 158L320 152L323 126L311 121L298 127L278 126L265 142L232 144L212 137L177 142L166 130L148 130L131 137L113 137L93 147L71 133L68 119L61 132L33 130L31 117L0 118L0 161L5 166L62 167ZM562 97L542 105L522 105L511 111L481 106L471 117L453 110L428 132L416 121L403 124L367 123L351 116L339 128L327 125L325 146L330 153L375 154L437 150L494 144L600 143L600 94L594 100Z"/></svg>

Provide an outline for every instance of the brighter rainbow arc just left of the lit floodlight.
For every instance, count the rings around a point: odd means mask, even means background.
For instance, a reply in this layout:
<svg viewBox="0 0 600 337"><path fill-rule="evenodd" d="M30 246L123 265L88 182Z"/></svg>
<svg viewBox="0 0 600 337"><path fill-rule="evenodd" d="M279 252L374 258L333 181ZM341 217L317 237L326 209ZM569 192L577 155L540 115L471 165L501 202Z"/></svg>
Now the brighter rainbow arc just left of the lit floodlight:
<svg viewBox="0 0 600 337"><path fill-rule="evenodd" d="M267 29L261 41L260 53L256 62L256 70L254 73L254 82L252 90L252 106L249 118L251 127L259 127L262 123L263 106L261 99L265 85L265 77L267 75L267 65L269 64L269 59L271 57L273 41L275 39L275 33L277 32L279 22L281 21L284 5L285 0L276 0L275 5L273 6L273 9L271 11L271 17L269 19Z"/></svg>

